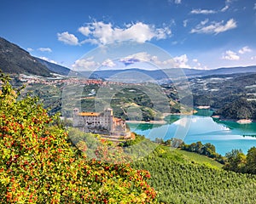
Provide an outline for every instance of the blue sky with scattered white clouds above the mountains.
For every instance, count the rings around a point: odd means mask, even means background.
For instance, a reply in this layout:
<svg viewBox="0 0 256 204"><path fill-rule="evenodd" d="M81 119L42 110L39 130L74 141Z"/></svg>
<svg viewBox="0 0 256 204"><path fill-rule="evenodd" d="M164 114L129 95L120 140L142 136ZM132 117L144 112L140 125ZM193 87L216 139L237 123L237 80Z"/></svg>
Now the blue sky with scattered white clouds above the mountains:
<svg viewBox="0 0 256 204"><path fill-rule="evenodd" d="M256 65L256 0L2 0L1 8L0 37L74 70L147 60L195 69ZM119 63L82 58L123 41L165 50L172 64L147 50Z"/></svg>

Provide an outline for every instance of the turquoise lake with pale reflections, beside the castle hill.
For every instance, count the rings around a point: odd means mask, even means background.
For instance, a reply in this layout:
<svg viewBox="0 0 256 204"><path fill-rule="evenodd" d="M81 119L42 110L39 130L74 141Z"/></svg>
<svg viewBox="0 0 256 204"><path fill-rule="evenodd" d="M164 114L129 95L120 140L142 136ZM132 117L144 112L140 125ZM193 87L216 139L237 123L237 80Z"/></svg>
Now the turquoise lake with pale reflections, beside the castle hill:
<svg viewBox="0 0 256 204"><path fill-rule="evenodd" d="M256 146L256 122L238 124L212 119L212 111L199 110L193 116L167 116L165 125L132 124L128 123L132 132L151 139L183 139L186 144L201 141L202 144L211 143L216 151L225 153L234 149L247 150Z"/></svg>

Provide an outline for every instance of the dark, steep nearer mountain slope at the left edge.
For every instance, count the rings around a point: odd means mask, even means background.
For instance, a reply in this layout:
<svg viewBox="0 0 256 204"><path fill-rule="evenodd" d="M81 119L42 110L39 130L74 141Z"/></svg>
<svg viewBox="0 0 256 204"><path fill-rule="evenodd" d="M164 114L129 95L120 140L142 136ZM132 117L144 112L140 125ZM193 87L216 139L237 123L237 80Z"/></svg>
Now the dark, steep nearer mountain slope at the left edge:
<svg viewBox="0 0 256 204"><path fill-rule="evenodd" d="M49 69L26 50L0 37L0 69L6 73L50 77Z"/></svg>

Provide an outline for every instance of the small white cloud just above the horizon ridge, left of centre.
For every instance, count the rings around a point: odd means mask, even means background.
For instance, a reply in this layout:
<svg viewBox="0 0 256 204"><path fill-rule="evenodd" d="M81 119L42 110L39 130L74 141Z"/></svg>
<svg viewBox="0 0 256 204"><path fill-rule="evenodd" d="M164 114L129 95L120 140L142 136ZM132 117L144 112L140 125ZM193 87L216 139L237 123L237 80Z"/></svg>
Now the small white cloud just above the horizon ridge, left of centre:
<svg viewBox="0 0 256 204"><path fill-rule="evenodd" d="M72 65L73 70L77 71L85 71L85 70L95 70L97 67L99 67L100 64L93 60L93 57L87 58L87 59L78 59L75 61L75 63Z"/></svg>

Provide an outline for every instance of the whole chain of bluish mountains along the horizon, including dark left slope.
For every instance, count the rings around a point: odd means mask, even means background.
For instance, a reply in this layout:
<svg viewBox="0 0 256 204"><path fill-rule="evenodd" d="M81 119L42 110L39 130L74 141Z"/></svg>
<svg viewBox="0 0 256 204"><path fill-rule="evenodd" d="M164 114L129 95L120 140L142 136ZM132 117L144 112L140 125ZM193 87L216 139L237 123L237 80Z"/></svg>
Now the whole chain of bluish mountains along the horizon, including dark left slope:
<svg viewBox="0 0 256 204"><path fill-rule="evenodd" d="M16 74L33 74L43 77L50 77L51 73L57 73L64 76L78 76L76 71L69 68L51 63L44 59L39 59L32 56L26 50L20 48L15 43L9 42L3 37L0 37L0 69L7 73ZM127 76L120 74L127 73ZM103 70L103 71L79 71L80 74L88 78L111 79L112 77L124 77L129 81L132 78L134 81L142 81L142 75L134 76L134 73L146 75L147 80L168 80L178 77L206 77L211 75L228 75L236 73L256 73L256 65L236 66L236 67L221 67L212 70L197 70L189 68L168 68L160 70L143 70L139 68L131 68L124 70ZM128 74L129 73L129 74Z"/></svg>

